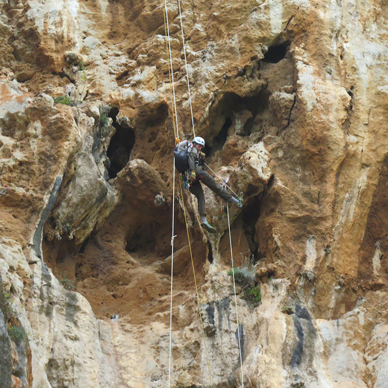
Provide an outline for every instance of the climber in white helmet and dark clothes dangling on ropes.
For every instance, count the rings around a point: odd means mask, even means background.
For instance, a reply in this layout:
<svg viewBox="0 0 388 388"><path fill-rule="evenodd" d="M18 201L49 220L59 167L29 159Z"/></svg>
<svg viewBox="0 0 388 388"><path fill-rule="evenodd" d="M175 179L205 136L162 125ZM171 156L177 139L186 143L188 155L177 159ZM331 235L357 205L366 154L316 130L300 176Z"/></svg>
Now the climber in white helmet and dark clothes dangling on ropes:
<svg viewBox="0 0 388 388"><path fill-rule="evenodd" d="M205 140L202 137L196 136L191 143L188 140L180 142L175 148L174 153L176 155L184 155L184 158L187 157L183 162L183 164L185 164L183 167L178 167L177 164L176 166L178 171L184 175L190 184L190 192L197 198L198 211L202 219L202 227L210 233L215 233L215 228L206 220L205 195L203 194L201 182L226 202L235 203L238 208L242 207L242 198L235 198L229 194L203 169L202 166L205 163L205 154L202 152L202 149L204 146Z"/></svg>

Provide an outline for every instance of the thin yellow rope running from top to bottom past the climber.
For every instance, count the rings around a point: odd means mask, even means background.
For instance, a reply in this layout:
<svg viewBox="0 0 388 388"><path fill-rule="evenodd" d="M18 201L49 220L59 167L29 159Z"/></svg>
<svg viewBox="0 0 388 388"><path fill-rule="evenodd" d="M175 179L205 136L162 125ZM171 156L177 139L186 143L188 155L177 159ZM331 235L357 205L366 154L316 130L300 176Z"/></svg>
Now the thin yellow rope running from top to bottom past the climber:
<svg viewBox="0 0 388 388"><path fill-rule="evenodd" d="M165 36L166 36L167 60L168 60L168 62L170 62L170 64L172 65L172 59L171 59L171 56L169 55L169 49L168 49L168 43L167 43L167 40L169 39L169 34L167 33L167 21L166 21L167 9L166 9L165 5L163 5L163 8L164 8L163 16L164 16L164 30L165 30ZM173 100L172 83L173 83L174 80L173 80L173 77L172 77L172 74L171 74L170 66L168 66L168 76L169 76L169 81L170 81L170 97L171 97L171 99ZM175 137L176 143L178 144L178 142L179 142L178 116L177 116L176 112L174 112L175 104L172 104L172 106L173 106L173 108L172 108L173 127L174 127L174 134L175 134L174 137ZM175 107L175 109L176 109L176 107ZM175 119L176 119L177 121L175 121ZM177 129L177 130L175 131L175 129ZM174 170L174 174L175 174L175 170ZM174 177L175 177L175 175L174 175ZM182 203L183 203L183 212L184 212L184 216L185 216L187 238L188 238L188 241L189 241L190 257L191 257L191 262L192 262L192 267L193 267L193 274L194 274L195 292L196 292L197 303L198 303L199 317L200 317L200 319L201 319L201 327L202 327L203 343L204 343L204 347L205 347L206 360L207 360L207 364L208 364L209 379L210 379L210 387L212 388L213 385L212 385L212 382L211 382L210 363L209 363L209 357L208 357L208 349L207 349L207 347L206 347L205 329L204 329L204 327L203 327L203 319L202 319L202 313L201 313L201 304L200 304L200 301L199 301L198 286L197 286L197 281L196 281L196 277L195 277L193 251L192 251L192 249L191 249L190 234L189 234L189 226L187 225L186 208L185 208L185 203L184 203L184 199L183 199L182 183L180 182L180 180L179 180L179 187L180 187L180 195L181 195ZM173 201L174 201L174 200L175 200L175 198L173 198ZM172 257L171 261L173 261L173 257ZM171 265L172 265L172 262L171 262ZM172 274L171 274L171 281L172 281ZM170 326L171 326L171 323L170 323ZM171 327L170 327L170 341L171 341ZM171 352L171 350L170 350L170 352ZM171 357L171 356L170 356L170 357ZM168 380L169 380L169 383L168 383L168 384L169 384L169 386L170 386L170 368L169 368L169 379L168 379Z"/></svg>

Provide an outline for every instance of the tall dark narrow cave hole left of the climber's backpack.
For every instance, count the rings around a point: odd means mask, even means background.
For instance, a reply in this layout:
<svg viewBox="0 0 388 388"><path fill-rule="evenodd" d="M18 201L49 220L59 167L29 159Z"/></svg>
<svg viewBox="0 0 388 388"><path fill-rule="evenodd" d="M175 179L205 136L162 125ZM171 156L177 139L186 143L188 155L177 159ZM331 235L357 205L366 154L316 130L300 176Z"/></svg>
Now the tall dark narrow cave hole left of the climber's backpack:
<svg viewBox="0 0 388 388"><path fill-rule="evenodd" d="M113 107L108 113L108 117L113 120L113 127L116 129L111 143L107 150L107 156L110 161L108 168L109 178L116 178L117 174L127 165L130 153L135 144L135 132L132 127L120 125L117 120L119 110Z"/></svg>

